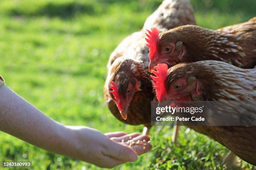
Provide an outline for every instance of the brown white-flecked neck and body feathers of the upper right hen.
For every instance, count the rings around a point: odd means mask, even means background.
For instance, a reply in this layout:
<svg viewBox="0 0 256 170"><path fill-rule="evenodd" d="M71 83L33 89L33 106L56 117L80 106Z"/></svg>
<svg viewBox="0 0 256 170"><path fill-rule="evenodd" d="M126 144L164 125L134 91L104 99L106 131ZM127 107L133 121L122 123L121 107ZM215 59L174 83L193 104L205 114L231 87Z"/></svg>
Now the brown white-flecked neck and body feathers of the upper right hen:
<svg viewBox="0 0 256 170"><path fill-rule="evenodd" d="M241 68L256 65L256 18L216 31L195 25L177 27L160 35L158 47L177 41L186 50L179 62L219 60Z"/></svg>

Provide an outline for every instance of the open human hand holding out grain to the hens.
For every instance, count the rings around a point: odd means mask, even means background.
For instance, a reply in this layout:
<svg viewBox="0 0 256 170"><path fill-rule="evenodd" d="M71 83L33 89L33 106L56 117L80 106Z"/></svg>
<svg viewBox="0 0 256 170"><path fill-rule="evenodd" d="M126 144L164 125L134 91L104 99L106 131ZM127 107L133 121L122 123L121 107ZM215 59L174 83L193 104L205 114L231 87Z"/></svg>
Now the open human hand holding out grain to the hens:
<svg viewBox="0 0 256 170"><path fill-rule="evenodd" d="M70 139L74 149L70 150L70 156L87 163L92 163L101 168L113 168L114 166L133 162L141 155L151 149L151 145L146 145L143 149L142 145L129 147L127 143L122 143L122 140L133 138L134 141L146 140L149 138L146 135L133 133L127 135L123 132L102 134L100 131L77 126L67 126L71 132Z"/></svg>

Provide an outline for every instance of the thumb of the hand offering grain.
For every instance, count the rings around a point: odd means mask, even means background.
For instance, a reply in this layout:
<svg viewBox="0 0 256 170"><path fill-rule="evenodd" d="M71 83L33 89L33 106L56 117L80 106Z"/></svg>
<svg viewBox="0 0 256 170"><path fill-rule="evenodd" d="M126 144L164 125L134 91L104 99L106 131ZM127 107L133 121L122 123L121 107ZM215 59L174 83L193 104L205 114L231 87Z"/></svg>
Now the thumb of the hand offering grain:
<svg viewBox="0 0 256 170"><path fill-rule="evenodd" d="M121 145L113 140L111 140L110 145L107 147L110 157L113 157L124 162L134 162L138 160L138 154L130 147Z"/></svg>

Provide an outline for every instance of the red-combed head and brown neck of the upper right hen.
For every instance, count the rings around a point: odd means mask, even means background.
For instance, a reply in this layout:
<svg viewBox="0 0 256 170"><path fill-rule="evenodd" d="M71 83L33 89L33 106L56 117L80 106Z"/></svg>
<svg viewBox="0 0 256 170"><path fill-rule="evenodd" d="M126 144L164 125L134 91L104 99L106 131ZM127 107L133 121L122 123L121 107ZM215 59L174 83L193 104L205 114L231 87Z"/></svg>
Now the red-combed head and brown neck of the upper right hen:
<svg viewBox="0 0 256 170"><path fill-rule="evenodd" d="M150 51L150 72L158 63L165 63L169 68L182 62L201 60L228 62L236 60L237 57L234 56L243 52L233 36L196 25L184 25L158 33L159 31L153 28L146 34Z"/></svg>

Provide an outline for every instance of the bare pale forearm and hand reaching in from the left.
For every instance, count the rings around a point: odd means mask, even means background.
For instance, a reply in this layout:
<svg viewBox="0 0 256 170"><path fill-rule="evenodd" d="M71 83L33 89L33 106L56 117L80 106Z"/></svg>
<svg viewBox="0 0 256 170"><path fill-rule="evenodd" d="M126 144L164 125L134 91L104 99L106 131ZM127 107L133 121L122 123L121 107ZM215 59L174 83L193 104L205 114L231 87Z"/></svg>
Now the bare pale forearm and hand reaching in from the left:
<svg viewBox="0 0 256 170"><path fill-rule="evenodd" d="M101 168L133 162L151 149L128 146L122 140L150 140L139 133L103 134L83 126L62 125L5 85L0 86L0 130L52 153L66 155ZM131 138L130 138L131 137Z"/></svg>

